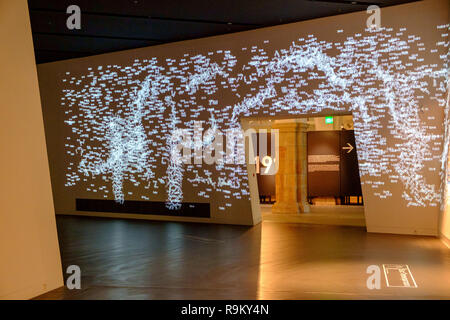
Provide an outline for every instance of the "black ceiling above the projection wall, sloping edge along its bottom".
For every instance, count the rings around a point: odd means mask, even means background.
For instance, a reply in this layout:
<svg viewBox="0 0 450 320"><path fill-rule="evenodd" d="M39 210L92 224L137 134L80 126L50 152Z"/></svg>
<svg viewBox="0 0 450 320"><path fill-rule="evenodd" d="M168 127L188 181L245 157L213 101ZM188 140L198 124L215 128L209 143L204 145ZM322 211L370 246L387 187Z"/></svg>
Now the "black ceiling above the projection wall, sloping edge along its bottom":
<svg viewBox="0 0 450 320"><path fill-rule="evenodd" d="M36 62L85 57L411 0L29 0ZM66 9L81 8L81 30Z"/></svg>

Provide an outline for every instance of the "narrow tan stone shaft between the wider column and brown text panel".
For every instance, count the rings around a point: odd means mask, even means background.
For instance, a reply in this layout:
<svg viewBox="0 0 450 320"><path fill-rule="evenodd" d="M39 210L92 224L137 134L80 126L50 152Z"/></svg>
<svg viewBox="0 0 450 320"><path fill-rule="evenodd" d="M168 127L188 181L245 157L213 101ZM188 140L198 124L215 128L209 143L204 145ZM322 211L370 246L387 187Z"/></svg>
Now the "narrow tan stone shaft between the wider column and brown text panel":
<svg viewBox="0 0 450 320"><path fill-rule="evenodd" d="M308 124L300 122L297 127L297 201L300 212L310 212L308 203L308 163L306 132Z"/></svg>

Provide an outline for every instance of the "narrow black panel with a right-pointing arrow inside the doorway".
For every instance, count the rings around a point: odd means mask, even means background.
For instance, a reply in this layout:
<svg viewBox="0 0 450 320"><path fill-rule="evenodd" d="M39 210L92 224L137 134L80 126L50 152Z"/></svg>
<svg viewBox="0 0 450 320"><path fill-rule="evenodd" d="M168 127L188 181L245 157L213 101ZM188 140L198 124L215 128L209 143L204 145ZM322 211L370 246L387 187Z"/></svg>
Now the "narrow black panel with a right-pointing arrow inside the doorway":
<svg viewBox="0 0 450 320"><path fill-rule="evenodd" d="M341 131L341 196L362 196L355 132Z"/></svg>

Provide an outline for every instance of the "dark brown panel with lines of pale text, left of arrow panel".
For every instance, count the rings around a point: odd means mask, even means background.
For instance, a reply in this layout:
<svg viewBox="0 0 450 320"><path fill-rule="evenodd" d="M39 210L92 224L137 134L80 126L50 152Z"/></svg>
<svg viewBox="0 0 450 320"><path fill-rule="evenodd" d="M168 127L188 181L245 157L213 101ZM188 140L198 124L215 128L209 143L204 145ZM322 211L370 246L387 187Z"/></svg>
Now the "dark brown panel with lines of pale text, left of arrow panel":
<svg viewBox="0 0 450 320"><path fill-rule="evenodd" d="M308 196L338 196L339 131L308 132Z"/></svg>

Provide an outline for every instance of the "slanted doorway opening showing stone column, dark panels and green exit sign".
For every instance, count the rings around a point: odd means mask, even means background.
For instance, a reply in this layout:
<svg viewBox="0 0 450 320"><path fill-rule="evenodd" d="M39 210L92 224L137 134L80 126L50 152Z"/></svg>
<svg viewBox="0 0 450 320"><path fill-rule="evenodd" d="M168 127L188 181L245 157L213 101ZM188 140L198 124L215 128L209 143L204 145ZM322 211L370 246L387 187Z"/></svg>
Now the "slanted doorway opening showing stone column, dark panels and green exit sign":
<svg viewBox="0 0 450 320"><path fill-rule="evenodd" d="M257 132L254 142L267 139L267 154L277 163L273 174L265 174L265 163L256 161L263 221L365 226L351 115L249 124Z"/></svg>

